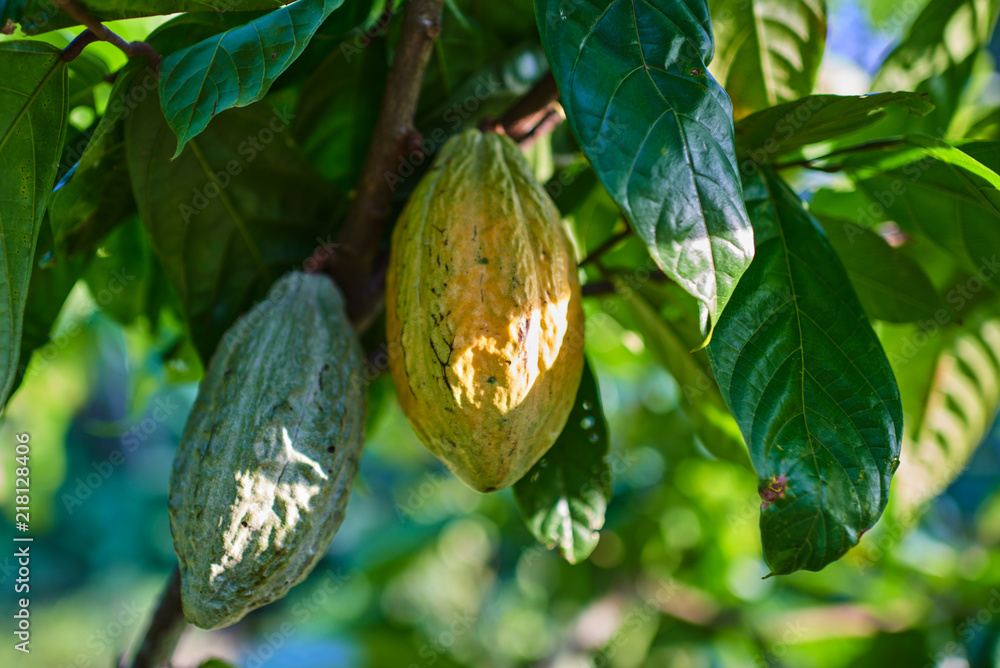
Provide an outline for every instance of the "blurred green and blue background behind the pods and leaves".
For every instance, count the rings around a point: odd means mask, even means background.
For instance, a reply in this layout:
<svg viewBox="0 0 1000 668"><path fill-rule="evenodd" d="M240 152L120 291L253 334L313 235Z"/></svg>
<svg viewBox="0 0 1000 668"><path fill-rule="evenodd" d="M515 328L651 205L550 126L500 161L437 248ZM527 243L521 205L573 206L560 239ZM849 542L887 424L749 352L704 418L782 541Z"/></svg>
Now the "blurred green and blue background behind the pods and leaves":
<svg viewBox="0 0 1000 668"><path fill-rule="evenodd" d="M867 91L922 4L831 3L820 90ZM141 39L160 22L113 27ZM983 110L996 114L1000 100L995 37L989 51L974 73L970 125ZM112 71L125 60L105 44L87 53ZM97 113L109 89L95 89ZM83 130L94 111L81 106L71 120ZM545 171L540 146L533 157ZM816 183L800 179L802 187ZM578 230L600 206L580 207ZM138 229L120 228L115 243ZM115 269L129 271L111 259L101 271ZM105 300L94 285L91 276L76 286L53 343L36 353L0 424L0 442L31 435L35 536L33 651L14 652L6 636L0 665L112 665L141 638L175 562L167 482L201 369L194 355L177 354L183 328L168 311L155 323L140 316L123 326L129 305L117 295ZM588 309L615 494L587 562L570 566L537 546L510 490L479 495L448 474L416 440L382 377L371 388L361 475L326 558L285 599L235 627L189 629L176 664L1000 665L998 427L914 520L887 513L822 572L762 579L755 479L696 442L676 382L642 336L606 315L614 311L608 304ZM12 471L10 462L0 467L6 545ZM12 552L0 554L5 591L16 577ZM6 619L11 603L0 597Z"/></svg>

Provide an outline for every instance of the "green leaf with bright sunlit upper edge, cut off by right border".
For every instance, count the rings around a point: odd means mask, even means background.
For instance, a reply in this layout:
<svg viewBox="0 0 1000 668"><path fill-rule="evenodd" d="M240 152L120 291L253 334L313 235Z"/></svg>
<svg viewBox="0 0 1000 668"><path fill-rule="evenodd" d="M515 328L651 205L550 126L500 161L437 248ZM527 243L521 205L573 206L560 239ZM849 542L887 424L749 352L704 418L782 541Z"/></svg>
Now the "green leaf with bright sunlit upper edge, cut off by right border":
<svg viewBox="0 0 1000 668"><path fill-rule="evenodd" d="M895 150L852 155L844 169L900 227L1000 288L1000 142L953 146L909 135Z"/></svg>

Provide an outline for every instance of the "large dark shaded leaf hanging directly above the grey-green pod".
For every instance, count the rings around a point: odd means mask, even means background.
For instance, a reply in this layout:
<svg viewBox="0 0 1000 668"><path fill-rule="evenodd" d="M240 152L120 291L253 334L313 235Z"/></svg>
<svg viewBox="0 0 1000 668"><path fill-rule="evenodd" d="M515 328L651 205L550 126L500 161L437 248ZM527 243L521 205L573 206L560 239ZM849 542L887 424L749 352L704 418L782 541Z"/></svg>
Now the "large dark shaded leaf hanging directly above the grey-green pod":
<svg viewBox="0 0 1000 668"><path fill-rule="evenodd" d="M203 361L275 278L327 240L336 192L291 142L289 123L265 104L231 109L171 160L156 95L125 119L139 213Z"/></svg>

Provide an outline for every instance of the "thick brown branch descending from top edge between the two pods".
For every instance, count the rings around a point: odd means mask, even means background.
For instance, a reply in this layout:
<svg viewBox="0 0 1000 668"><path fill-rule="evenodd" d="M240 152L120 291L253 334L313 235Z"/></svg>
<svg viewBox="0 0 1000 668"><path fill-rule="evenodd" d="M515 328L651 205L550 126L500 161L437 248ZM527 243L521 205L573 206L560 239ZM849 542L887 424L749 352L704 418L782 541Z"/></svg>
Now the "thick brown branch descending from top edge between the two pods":
<svg viewBox="0 0 1000 668"><path fill-rule="evenodd" d="M379 281L373 280L373 266L392 211L392 193L401 180L396 173L399 161L419 151L421 144L413 116L434 41L441 34L443 4L444 0L406 2L375 132L338 237L339 247L324 263L317 263L344 292L348 313L359 330L370 319L366 305L378 298Z"/></svg>

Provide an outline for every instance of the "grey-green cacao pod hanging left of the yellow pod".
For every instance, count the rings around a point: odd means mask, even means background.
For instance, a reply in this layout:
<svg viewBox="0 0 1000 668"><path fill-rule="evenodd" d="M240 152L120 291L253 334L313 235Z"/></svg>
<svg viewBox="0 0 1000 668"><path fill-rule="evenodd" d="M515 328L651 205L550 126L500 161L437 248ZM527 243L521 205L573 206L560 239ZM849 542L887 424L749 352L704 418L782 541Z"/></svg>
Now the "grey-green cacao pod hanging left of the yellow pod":
<svg viewBox="0 0 1000 668"><path fill-rule="evenodd" d="M189 622L228 626L312 570L344 518L363 355L333 282L286 274L226 332L170 477Z"/></svg>

